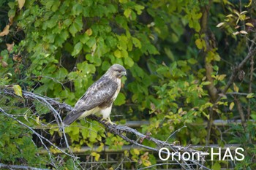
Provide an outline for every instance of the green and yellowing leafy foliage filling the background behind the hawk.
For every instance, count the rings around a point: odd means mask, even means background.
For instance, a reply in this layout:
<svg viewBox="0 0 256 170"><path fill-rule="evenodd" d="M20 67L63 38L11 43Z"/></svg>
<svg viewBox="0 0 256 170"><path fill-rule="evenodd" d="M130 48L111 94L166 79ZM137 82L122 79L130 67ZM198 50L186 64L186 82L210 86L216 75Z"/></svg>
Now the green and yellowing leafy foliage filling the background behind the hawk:
<svg viewBox="0 0 256 170"><path fill-rule="evenodd" d="M89 85L119 63L128 74L112 120L148 120L150 124L140 131L185 146L240 144L246 158L236 163L236 169L255 168L255 72L250 71L254 58L227 93L221 93L234 66L248 55L246 44L255 43L254 1L4 0L0 4L2 87L19 85L74 106ZM0 95L1 108L31 127L54 120L37 101ZM203 124L240 120L239 108L244 110L245 126ZM66 114L61 112L62 117ZM60 163L58 158L39 155L42 144L31 132L9 117L0 117L1 163L74 169L84 161L74 163L59 155L64 160ZM58 128L39 131L61 146ZM104 146L118 150L128 144L92 120L80 120L66 132L76 150L97 146L97 151L86 154L99 162ZM137 162L136 167L150 166L157 159L137 149L125 155ZM206 166L220 169L221 163Z"/></svg>

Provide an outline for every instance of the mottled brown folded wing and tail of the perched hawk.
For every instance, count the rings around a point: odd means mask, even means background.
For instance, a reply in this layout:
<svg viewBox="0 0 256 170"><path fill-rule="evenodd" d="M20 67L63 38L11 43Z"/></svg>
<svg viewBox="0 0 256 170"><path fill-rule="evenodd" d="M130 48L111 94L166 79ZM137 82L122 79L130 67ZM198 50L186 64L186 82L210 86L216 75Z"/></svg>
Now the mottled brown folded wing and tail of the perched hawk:
<svg viewBox="0 0 256 170"><path fill-rule="evenodd" d="M103 102L110 100L116 93L117 88L117 83L109 78L102 77L97 82L94 82L75 104L72 112L64 119L64 124L71 124L86 110L94 109Z"/></svg>

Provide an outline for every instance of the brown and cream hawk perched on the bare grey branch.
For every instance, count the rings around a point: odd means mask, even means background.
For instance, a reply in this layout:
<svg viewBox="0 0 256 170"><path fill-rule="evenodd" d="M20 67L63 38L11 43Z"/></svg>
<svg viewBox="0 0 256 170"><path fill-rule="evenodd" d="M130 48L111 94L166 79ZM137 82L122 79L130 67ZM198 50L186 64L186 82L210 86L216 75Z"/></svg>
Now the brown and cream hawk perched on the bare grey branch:
<svg viewBox="0 0 256 170"><path fill-rule="evenodd" d="M110 66L108 71L94 82L78 100L75 107L63 120L64 125L70 125L77 119L97 112L101 113L102 120L108 120L107 123L113 124L110 120L112 104L120 91L121 77L126 74L124 66L119 64Z"/></svg>

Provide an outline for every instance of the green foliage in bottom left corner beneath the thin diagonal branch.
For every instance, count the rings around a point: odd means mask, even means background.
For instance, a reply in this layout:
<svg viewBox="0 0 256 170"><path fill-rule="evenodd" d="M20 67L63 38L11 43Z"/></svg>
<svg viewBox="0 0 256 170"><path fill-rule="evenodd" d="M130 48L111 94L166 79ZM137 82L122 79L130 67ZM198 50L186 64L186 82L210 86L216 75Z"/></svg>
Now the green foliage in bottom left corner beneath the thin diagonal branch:
<svg viewBox="0 0 256 170"><path fill-rule="evenodd" d="M3 115L1 115L1 120L1 163L29 164L31 166L47 163L46 156L42 155L38 159L38 148L31 141L31 132L28 129L20 127L16 121ZM42 168L44 167L42 166Z"/></svg>

